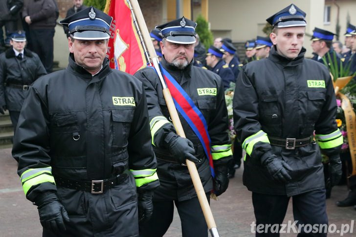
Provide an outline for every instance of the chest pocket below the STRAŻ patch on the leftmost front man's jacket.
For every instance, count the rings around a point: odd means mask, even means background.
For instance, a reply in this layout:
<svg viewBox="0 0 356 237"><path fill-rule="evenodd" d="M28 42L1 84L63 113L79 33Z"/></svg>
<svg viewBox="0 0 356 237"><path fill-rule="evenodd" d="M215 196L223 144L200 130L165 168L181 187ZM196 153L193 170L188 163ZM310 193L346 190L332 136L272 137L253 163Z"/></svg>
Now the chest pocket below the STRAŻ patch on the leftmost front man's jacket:
<svg viewBox="0 0 356 237"><path fill-rule="evenodd" d="M134 109L111 110L112 147L127 146L130 126L134 119Z"/></svg>

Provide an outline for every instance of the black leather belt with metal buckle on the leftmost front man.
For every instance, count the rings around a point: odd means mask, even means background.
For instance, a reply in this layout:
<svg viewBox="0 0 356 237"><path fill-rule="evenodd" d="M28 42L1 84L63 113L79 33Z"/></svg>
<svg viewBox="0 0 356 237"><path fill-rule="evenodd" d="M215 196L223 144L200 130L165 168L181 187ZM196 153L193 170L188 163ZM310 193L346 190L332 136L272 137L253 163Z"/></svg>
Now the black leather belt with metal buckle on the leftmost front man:
<svg viewBox="0 0 356 237"><path fill-rule="evenodd" d="M92 194L102 194L106 190L111 189L122 183L129 176L129 172L129 170L126 170L122 174L117 175L116 177L103 180L83 181L67 179L59 176L56 176L54 180L56 181L57 186L65 187L68 189L86 191Z"/></svg>

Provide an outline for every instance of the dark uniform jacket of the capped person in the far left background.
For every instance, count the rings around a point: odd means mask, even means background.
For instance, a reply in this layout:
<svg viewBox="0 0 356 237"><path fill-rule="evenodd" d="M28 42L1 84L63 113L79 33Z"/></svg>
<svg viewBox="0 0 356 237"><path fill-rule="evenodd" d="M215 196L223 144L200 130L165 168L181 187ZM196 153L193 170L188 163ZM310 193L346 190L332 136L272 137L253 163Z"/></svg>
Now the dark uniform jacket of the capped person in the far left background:
<svg viewBox="0 0 356 237"><path fill-rule="evenodd" d="M31 85L45 74L45 67L36 53L25 48L23 58L19 60L13 48L6 50L0 55L0 106L6 105L8 110L20 111L28 92L20 86Z"/></svg>

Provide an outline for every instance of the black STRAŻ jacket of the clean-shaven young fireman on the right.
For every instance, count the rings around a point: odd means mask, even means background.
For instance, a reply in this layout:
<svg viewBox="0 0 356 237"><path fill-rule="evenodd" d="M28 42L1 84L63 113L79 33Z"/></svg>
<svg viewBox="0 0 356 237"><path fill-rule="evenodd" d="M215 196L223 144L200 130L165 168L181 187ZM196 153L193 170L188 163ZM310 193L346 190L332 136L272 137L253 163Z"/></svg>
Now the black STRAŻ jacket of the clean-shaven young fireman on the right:
<svg viewBox="0 0 356 237"><path fill-rule="evenodd" d="M336 100L327 68L304 58L303 48L293 60L277 54L272 47L267 59L246 64L240 71L234 93L234 126L243 144L259 131L268 137L307 138L338 131L335 122ZM341 146L323 149L338 155ZM261 165L269 152L282 156L293 169L287 185L274 182ZM287 150L257 142L245 157L243 181L248 190L262 194L301 194L324 188L319 146L311 144Z"/></svg>

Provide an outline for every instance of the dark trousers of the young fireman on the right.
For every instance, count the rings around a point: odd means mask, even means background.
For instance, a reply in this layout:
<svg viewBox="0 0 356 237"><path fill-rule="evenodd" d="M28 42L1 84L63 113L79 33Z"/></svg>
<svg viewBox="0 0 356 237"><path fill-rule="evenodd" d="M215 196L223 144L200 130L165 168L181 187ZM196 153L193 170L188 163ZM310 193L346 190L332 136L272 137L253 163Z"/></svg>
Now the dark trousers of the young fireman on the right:
<svg viewBox="0 0 356 237"><path fill-rule="evenodd" d="M269 194L257 194L252 193L252 203L256 217L256 226L259 224L264 224L266 230L267 224L272 226L273 224L281 224L286 215L289 197L286 195L269 195ZM314 190L304 194L299 194L292 196L293 203L293 216L294 220L297 220L296 229L298 230L298 225L327 225L328 216L326 215L326 204L325 204L325 190ZM293 220L290 220L293 223ZM288 222L288 221L287 221ZM288 228L285 229L287 231ZM325 228L324 228L325 229ZM256 230L256 229L255 229ZM298 237L326 237L327 233L309 233L306 227L306 232L304 228L301 228L301 233ZM257 233L256 236L266 237L272 236L277 237L279 233L273 233L271 229L267 229L267 233ZM293 234L293 233L291 233Z"/></svg>

